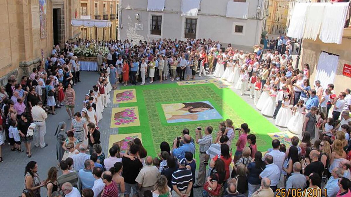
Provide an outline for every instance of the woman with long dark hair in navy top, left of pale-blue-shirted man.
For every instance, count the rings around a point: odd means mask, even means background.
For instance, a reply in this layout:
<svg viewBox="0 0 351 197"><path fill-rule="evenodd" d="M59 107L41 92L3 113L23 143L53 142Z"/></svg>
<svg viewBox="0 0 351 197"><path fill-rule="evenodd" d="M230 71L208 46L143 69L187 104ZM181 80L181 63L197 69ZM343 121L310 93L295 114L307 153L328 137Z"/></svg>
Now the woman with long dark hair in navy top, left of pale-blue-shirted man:
<svg viewBox="0 0 351 197"><path fill-rule="evenodd" d="M247 182L249 183L249 196L258 190L261 186L260 173L266 168L266 164L262 161L262 153L257 151L254 161L247 166L249 173L247 174Z"/></svg>

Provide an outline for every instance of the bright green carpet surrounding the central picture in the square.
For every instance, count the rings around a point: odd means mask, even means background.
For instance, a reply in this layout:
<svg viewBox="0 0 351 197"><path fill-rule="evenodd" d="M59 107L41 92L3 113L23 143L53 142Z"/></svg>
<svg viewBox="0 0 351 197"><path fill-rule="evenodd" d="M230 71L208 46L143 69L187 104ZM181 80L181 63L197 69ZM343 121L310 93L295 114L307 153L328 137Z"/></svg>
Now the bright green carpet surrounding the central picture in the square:
<svg viewBox="0 0 351 197"><path fill-rule="evenodd" d="M259 151L271 148L272 138L267 133L279 132L272 123L261 116L255 109L247 104L229 88L219 89L214 84L197 84L179 86L177 83L152 84L147 86L121 87L121 89L135 88L138 102L121 103L119 107L137 106L139 110L140 126L119 128L119 134L141 133L143 145L148 155L156 156L160 152L160 143L166 141L172 149L174 138L181 135L184 128L190 130L195 137L195 129L199 126L211 125L214 129L212 136L216 136L219 122L230 118L236 128L241 123L249 124L250 133L257 137L256 144ZM202 120L192 122L167 123L162 104L210 101L212 106L223 117L223 120ZM232 143L233 155L236 150L235 143L238 132ZM196 156L198 161L198 145Z"/></svg>

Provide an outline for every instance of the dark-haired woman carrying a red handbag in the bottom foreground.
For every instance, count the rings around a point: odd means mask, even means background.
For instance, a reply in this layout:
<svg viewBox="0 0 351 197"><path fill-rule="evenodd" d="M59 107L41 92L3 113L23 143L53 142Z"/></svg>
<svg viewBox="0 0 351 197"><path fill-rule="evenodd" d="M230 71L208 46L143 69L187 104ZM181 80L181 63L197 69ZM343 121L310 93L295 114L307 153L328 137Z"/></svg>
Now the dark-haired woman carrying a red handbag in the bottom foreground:
<svg viewBox="0 0 351 197"><path fill-rule="evenodd" d="M212 171L210 176L207 177L204 190L208 192L208 196L210 197L223 196L225 179L224 161L217 159L211 168Z"/></svg>

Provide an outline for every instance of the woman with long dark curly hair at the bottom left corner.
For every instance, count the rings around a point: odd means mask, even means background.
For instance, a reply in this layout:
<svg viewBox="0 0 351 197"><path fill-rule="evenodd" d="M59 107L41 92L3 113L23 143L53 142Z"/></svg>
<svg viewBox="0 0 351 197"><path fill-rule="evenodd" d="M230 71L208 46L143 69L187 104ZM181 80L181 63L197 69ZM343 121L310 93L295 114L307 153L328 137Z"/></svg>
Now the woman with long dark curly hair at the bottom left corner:
<svg viewBox="0 0 351 197"><path fill-rule="evenodd" d="M35 161L30 161L25 169L25 189L30 189L34 193L34 197L40 197L40 188L45 185L45 182L40 182L38 175L38 164Z"/></svg>

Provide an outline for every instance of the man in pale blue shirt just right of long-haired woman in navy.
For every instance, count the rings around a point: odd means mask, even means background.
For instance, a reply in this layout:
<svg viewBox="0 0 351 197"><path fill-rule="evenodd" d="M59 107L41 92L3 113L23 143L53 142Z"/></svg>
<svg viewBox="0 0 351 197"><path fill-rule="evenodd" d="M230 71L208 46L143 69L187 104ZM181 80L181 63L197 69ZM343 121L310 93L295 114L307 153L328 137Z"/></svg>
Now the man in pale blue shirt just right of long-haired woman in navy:
<svg viewBox="0 0 351 197"><path fill-rule="evenodd" d="M259 178L269 178L271 180L271 189L275 192L277 190L281 170L273 163L273 157L271 155L266 155L265 162L266 168L261 172Z"/></svg>

